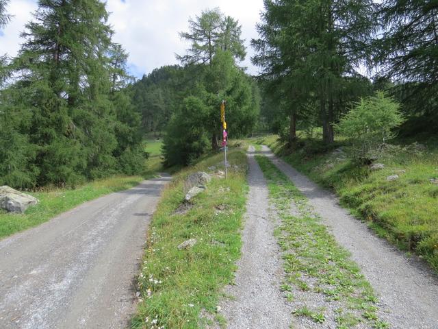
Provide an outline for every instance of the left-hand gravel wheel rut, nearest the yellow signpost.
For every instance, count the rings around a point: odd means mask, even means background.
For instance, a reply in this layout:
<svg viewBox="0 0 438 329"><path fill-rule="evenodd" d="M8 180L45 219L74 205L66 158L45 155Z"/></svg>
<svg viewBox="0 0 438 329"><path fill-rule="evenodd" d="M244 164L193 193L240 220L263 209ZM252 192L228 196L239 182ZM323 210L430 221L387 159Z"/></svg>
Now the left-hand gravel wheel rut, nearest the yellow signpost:
<svg viewBox="0 0 438 329"><path fill-rule="evenodd" d="M248 151L250 190L242 258L237 262L235 285L224 291L232 300L220 303L220 313L227 319L227 328L289 328L292 310L280 291L283 262L273 236L275 223L269 213L268 187L253 157L254 148Z"/></svg>

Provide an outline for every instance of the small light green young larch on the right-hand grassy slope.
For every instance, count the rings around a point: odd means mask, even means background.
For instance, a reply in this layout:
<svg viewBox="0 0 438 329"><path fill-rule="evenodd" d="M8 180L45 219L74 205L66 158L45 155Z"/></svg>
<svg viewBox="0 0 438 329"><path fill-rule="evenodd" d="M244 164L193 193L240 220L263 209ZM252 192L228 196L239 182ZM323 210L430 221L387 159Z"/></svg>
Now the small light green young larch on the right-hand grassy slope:
<svg viewBox="0 0 438 329"><path fill-rule="evenodd" d="M350 153L355 159L380 156L383 146L394 138L394 128L404 120L400 105L382 92L361 99L335 126L337 132L351 143Z"/></svg>

